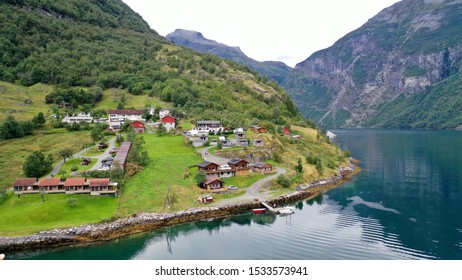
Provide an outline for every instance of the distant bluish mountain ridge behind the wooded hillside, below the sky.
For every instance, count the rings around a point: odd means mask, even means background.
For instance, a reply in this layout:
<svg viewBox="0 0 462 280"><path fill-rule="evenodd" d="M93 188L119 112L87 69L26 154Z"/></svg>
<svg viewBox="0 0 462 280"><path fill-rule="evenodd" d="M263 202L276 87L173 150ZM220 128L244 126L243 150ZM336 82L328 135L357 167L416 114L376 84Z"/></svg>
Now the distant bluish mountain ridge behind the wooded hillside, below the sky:
<svg viewBox="0 0 462 280"><path fill-rule="evenodd" d="M205 38L202 33L177 29L166 36L167 40L180 45L186 46L202 53L216 54L221 58L230 59L239 64L249 66L258 73L281 83L285 77L292 71L292 68L278 61L256 61L245 55L239 47L230 47Z"/></svg>

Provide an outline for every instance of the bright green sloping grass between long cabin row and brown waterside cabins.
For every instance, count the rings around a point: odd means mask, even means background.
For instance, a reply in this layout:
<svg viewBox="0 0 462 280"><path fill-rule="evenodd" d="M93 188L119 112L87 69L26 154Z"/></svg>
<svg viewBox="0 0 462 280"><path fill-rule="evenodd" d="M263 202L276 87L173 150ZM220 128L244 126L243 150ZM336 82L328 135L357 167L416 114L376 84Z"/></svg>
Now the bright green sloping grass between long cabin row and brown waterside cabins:
<svg viewBox="0 0 462 280"><path fill-rule="evenodd" d="M169 187L178 196L178 203L171 211L197 206L194 198L201 190L195 186L194 174L190 173L188 167L199 163L201 157L192 147L182 144L182 136L144 135L144 139L144 147L151 161L125 186L117 216L143 211L167 211L163 207Z"/></svg>

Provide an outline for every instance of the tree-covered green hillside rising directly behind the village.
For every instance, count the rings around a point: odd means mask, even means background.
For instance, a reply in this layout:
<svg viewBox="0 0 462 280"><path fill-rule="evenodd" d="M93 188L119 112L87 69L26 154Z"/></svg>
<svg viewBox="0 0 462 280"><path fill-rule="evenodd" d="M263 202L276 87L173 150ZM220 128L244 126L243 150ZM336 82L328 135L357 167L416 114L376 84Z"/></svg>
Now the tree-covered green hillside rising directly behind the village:
<svg viewBox="0 0 462 280"><path fill-rule="evenodd" d="M96 87L146 95L192 119L220 119L230 127L303 121L276 83L235 62L169 43L120 0L8 0L0 10L0 80L54 85L49 111L59 101L80 105L77 111L98 106L68 100ZM126 98L102 99L120 99L117 106L124 107ZM23 101L0 109L14 115L35 106Z"/></svg>

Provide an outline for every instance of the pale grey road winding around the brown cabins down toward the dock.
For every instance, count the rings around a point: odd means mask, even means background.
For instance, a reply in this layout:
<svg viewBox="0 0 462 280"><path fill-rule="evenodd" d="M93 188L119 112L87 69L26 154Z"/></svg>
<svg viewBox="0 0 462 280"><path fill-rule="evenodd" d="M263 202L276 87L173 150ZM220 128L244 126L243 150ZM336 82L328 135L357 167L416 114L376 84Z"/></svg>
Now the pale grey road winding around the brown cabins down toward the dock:
<svg viewBox="0 0 462 280"><path fill-rule="evenodd" d="M210 148L212 148L212 147L206 147L206 148L200 149L200 153L202 155L202 158L205 161L214 162L214 163L220 164L220 165L224 165L229 161L228 158L219 157L219 156L210 154L208 152L208 150ZM260 192L260 188L262 186L264 186L265 183L277 178L281 174L285 174L286 172L287 172L287 170L285 170L284 168L276 167L276 173L274 173L271 176L265 177L265 178L263 178L261 180L258 180L255 183L253 183L250 187L246 188L245 194L240 195L238 197L234 197L234 198L220 200L218 203L216 203L216 205L223 206L223 205L235 204L235 203L239 203L239 202L251 201L251 200L254 200L254 199L268 200L270 198L269 197L270 194Z"/></svg>

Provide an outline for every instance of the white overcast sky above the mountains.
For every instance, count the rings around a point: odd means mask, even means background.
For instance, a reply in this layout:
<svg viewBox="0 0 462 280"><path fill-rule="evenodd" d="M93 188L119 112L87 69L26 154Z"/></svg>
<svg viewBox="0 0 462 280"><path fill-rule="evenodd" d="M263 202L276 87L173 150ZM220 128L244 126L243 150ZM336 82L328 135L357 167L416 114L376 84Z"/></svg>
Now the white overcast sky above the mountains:
<svg viewBox="0 0 462 280"><path fill-rule="evenodd" d="M330 47L398 0L123 0L166 36L177 28L289 66Z"/></svg>

